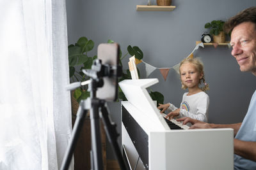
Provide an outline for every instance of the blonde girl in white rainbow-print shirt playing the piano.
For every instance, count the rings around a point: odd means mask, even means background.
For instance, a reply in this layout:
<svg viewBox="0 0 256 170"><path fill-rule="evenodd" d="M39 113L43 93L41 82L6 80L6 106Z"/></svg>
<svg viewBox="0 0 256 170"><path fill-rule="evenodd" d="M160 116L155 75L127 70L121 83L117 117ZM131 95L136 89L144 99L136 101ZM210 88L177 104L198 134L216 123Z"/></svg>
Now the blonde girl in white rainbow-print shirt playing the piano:
<svg viewBox="0 0 256 170"><path fill-rule="evenodd" d="M158 109L171 110L166 118L191 117L202 122L208 121L209 96L205 93L209 90L209 85L205 83L204 66L198 59L186 58L180 62L180 80L182 89L188 89L184 93L180 108L176 108L171 103L159 104ZM204 83L204 87L199 85Z"/></svg>

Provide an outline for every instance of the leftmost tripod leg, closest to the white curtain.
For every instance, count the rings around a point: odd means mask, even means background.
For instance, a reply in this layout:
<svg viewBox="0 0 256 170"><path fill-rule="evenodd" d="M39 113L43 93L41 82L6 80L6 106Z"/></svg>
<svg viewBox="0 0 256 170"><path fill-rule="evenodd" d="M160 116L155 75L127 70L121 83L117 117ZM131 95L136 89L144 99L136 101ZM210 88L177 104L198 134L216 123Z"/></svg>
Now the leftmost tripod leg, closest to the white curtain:
<svg viewBox="0 0 256 170"><path fill-rule="evenodd" d="M73 127L72 136L70 138L70 142L68 143L65 156L62 160L61 170L68 169L76 146L77 139L79 137L79 133L81 131L81 128L83 127L84 117L86 116L87 110L84 110L83 106L81 105L83 105L83 101L81 101L81 104L79 105L79 108L77 110L76 122Z"/></svg>

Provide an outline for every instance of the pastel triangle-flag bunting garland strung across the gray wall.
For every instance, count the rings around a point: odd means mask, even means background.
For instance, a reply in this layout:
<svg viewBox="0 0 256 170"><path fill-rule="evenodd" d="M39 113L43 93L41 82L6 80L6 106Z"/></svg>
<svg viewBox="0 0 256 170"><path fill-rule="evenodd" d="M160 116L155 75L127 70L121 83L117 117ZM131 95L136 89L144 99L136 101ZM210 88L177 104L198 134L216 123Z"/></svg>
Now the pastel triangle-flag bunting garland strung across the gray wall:
<svg viewBox="0 0 256 170"><path fill-rule="evenodd" d="M196 45L196 47L194 48L194 50L188 55L189 58L193 59L194 57L194 52L195 50L197 50L199 48L199 46L202 46L204 48L204 43L198 43L198 45ZM188 58L187 57L187 58ZM175 64L175 66L172 66L172 67L161 67L161 68L157 68L157 67L154 67L150 64L148 64L147 62L143 61L143 60L140 60L140 61L136 61L136 64L140 63L140 62L143 62L145 64L145 68L146 68L146 76L148 77L153 71L155 71L156 69L159 69L160 73L162 74L163 78L164 78L164 81L166 81L166 78L168 76L168 73L170 71L170 69L174 69L178 74L179 74L179 67L180 67L180 64Z"/></svg>

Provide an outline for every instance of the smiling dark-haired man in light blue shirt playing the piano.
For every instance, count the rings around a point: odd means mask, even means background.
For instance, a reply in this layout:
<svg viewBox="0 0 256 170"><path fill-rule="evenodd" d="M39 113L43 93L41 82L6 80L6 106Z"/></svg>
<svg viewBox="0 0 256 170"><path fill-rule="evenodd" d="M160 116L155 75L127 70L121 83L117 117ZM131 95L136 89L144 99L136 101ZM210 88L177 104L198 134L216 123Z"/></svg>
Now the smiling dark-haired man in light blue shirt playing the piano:
<svg viewBox="0 0 256 170"><path fill-rule="evenodd" d="M232 31L231 54L236 58L241 71L250 71L256 76L256 7L241 11L225 23L227 32ZM234 129L234 169L256 169L256 91L253 93L248 112L239 124L205 124L192 118L180 118L183 124L191 122L191 129Z"/></svg>

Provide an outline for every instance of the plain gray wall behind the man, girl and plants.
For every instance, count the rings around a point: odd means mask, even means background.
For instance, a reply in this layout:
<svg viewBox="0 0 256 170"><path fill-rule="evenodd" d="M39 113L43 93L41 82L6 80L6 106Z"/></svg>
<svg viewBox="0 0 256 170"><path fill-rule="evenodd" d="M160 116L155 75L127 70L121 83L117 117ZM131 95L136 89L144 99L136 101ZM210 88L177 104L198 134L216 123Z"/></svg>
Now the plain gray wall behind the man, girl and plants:
<svg viewBox="0 0 256 170"><path fill-rule="evenodd" d="M156 1L152 1L156 4ZM120 44L123 53L127 46L139 46L143 60L155 67L172 67L187 57L200 40L204 24L211 20L227 20L250 6L255 0L173 0L173 11L136 11L136 5L147 0L69 0L67 1L68 44L81 36L95 42L112 39ZM196 51L205 66L205 79L210 85L209 122L229 124L241 122L246 114L250 97L255 90L256 78L252 73L241 73L227 46L206 46ZM97 53L97 48L89 55ZM129 57L123 60L127 63ZM125 66L127 68L127 66ZM145 78L145 67L139 65ZM158 78L151 89L164 94L164 103L179 106L182 94L179 76L170 69L164 81L159 70L148 78ZM119 103L109 103L113 121L120 132ZM118 139L120 142L120 139ZM109 153L111 153L109 151ZM108 157L112 157L111 154Z"/></svg>

